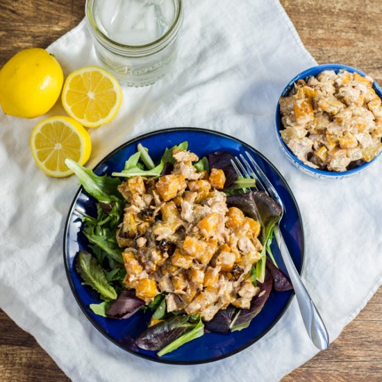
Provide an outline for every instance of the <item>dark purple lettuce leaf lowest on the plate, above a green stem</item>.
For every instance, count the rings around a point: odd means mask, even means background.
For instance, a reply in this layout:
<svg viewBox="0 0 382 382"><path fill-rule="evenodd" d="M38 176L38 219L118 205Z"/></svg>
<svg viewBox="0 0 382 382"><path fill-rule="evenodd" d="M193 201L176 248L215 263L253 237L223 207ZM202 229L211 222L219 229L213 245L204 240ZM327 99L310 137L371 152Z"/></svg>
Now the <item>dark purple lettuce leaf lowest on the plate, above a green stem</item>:
<svg viewBox="0 0 382 382"><path fill-rule="evenodd" d="M181 335L192 331L192 325L187 324L189 316L178 315L149 327L135 340L138 347L145 350L158 351L181 337Z"/></svg>

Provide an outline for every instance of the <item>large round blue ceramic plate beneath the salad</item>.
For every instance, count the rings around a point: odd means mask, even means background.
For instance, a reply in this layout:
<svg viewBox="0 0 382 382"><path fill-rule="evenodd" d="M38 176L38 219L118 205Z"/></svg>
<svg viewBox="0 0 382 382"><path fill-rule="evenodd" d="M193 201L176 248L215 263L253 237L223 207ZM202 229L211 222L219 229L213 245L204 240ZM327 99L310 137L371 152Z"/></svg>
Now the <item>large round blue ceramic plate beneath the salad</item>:
<svg viewBox="0 0 382 382"><path fill-rule="evenodd" d="M183 141L188 141L191 151L197 153L199 157L208 155L213 151L226 150L238 155L249 151L270 181L276 187L285 204L285 215L281 224L281 231L290 249L290 254L299 272L301 272L304 260L304 232L301 222L299 208L294 200L292 192L287 183L269 163L269 161L258 151L244 142L240 142L229 135L215 133L199 128L169 128L167 130L156 131L135 138L121 147L118 147L104 158L94 169L98 175L111 174L123 169L125 160L136 151L138 142L144 147L148 147L153 160L160 160L166 147L172 147ZM64 234L64 260L69 284L74 293L74 297L81 306L83 313L90 319L90 322L108 338L110 341L137 356L155 360L163 363L174 364L194 364L206 363L219 360L238 353L249 347L263 337L279 321L294 295L293 292L272 291L263 310L251 322L251 325L242 331L235 331L229 334L206 333L201 338L188 342L163 357L156 356L154 351L139 349L135 346L134 339L144 329L147 329L151 313L138 312L129 319L109 319L94 315L89 308L89 304L101 302L97 292L88 286L81 285L81 279L74 268L74 257L76 253L83 249L88 249L88 241L81 233L81 218L76 209L84 211L88 215L95 215L95 200L80 188L74 197L74 201L69 210ZM279 267L285 271L279 250L275 243L274 255Z"/></svg>

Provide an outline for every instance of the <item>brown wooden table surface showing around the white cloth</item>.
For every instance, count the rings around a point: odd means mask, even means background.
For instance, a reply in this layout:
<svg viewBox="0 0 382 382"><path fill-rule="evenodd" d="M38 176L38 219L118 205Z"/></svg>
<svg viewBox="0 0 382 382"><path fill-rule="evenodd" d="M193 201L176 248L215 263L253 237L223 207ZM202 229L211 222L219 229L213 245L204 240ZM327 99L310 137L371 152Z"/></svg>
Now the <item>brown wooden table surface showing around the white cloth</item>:
<svg viewBox="0 0 382 382"><path fill-rule="evenodd" d="M265 1L265 0L258 0ZM1 0L0 67L19 49L47 47L84 16L84 0ZM382 83L381 0L281 0L318 63L358 67ZM382 381L382 288L326 351L283 381ZM0 310L0 381L67 376Z"/></svg>

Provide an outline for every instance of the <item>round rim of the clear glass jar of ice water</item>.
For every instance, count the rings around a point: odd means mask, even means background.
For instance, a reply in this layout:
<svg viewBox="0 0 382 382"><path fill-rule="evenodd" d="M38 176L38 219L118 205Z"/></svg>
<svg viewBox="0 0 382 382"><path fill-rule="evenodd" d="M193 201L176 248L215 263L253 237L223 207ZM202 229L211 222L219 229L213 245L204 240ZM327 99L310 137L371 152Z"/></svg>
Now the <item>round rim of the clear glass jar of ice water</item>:
<svg viewBox="0 0 382 382"><path fill-rule="evenodd" d="M89 22L90 26L92 27L92 31L95 33L96 37L103 40L103 42L110 44L115 49L124 49L124 50L129 50L132 52L135 51L138 53L138 51L142 51L144 49L150 49L150 48L155 48L157 46L160 46L163 42L165 42L167 40L168 37L170 37L172 35L172 33L174 31L176 32L176 26L178 26L179 22L181 21L182 0L174 0L174 3L177 3L178 7L176 10L174 21L172 22L171 26L169 27L168 31L166 31L166 33L164 33L162 36L160 36L160 38L158 38L157 40L154 40L153 42L149 42L147 44L142 44L142 45L122 44L120 42L117 42L117 41L109 38L97 26L97 22L95 21L94 14L93 14L93 8L94 8L94 4L96 3L96 1L97 0L86 0L86 5L85 5L86 18L88 19L88 22Z"/></svg>

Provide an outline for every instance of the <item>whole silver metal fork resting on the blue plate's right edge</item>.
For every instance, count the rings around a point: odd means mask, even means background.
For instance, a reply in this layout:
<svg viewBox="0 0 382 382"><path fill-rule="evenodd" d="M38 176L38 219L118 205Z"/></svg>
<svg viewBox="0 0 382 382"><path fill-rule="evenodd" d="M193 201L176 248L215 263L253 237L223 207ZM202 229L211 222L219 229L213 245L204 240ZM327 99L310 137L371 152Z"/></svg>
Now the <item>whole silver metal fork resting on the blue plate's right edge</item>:
<svg viewBox="0 0 382 382"><path fill-rule="evenodd" d="M240 159L236 156L235 160L231 160L236 174L238 174L238 176L254 178L256 180L256 187L258 190L268 194L269 197L272 197L272 199L281 207L281 220L285 211L281 197L267 176L264 174L263 170L260 169L254 158L252 158L251 154L248 151L245 151L245 154L247 155L248 160L244 158L242 154L240 154ZM318 349L324 350L329 346L328 331L326 331L324 322L322 321L315 304L310 298L308 291L302 283L301 277L294 266L288 247L285 244L283 235L281 234L279 224L274 227L274 236L277 244L279 244L279 249L285 263L285 267L288 270L306 331L308 332L313 344L315 344Z"/></svg>

